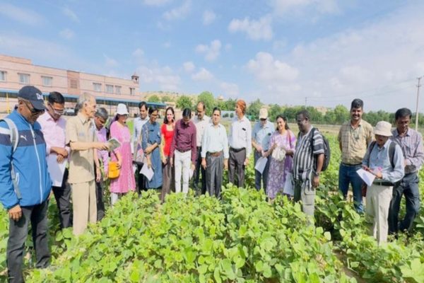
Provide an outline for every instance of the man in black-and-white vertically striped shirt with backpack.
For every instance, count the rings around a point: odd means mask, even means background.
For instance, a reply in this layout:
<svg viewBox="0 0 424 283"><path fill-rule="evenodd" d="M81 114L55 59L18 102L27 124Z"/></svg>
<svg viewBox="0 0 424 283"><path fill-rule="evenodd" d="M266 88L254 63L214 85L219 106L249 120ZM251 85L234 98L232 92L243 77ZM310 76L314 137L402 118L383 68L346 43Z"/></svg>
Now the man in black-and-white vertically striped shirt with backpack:
<svg viewBox="0 0 424 283"><path fill-rule="evenodd" d="M314 216L315 189L319 185L319 174L324 163L324 139L310 124L310 113L302 110L296 115L300 130L293 157L293 179L295 202L302 201L305 214Z"/></svg>

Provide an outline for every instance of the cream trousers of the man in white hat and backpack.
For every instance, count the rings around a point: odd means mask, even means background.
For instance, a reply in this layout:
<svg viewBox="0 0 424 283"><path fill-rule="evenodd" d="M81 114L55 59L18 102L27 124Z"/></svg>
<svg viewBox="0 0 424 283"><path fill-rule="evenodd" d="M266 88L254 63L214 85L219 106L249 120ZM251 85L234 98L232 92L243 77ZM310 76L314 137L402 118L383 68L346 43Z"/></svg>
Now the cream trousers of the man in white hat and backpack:
<svg viewBox="0 0 424 283"><path fill-rule="evenodd" d="M378 243L387 242L389 207L393 187L372 185L367 188L365 213L372 217L371 233Z"/></svg>

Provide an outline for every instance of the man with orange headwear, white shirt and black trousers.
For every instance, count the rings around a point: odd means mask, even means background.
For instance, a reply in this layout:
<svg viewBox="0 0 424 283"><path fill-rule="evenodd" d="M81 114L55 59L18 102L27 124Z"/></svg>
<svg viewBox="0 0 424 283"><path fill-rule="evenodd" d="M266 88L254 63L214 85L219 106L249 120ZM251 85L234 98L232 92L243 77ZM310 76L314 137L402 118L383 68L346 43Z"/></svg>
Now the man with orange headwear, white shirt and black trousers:
<svg viewBox="0 0 424 283"><path fill-rule="evenodd" d="M252 125L245 113L245 100L237 100L235 117L231 122L228 139L230 144L228 180L238 187L245 185L245 166L247 166L249 156L252 154ZM236 176L237 183L235 183Z"/></svg>

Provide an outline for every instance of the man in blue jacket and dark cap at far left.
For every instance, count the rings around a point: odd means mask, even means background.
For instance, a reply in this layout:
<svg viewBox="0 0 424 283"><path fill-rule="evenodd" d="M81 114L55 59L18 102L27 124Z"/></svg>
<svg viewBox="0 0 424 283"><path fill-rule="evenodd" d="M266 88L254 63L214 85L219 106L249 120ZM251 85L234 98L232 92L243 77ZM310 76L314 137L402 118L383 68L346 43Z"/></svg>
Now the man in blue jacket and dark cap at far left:
<svg viewBox="0 0 424 283"><path fill-rule="evenodd" d="M43 112L41 91L24 86L18 92L18 109L6 117L9 124L0 122L0 202L10 218L6 255L9 282L23 282L23 254L30 222L37 255L35 267L45 268L50 261L47 197L52 181L47 171L45 139L36 122Z"/></svg>

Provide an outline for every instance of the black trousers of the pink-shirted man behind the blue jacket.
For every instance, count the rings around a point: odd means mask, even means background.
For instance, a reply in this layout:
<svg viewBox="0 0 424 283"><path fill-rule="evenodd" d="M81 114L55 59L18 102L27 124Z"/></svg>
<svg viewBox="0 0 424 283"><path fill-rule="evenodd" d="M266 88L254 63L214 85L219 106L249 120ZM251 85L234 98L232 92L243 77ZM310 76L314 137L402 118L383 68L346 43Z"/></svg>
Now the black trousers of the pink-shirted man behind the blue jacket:
<svg viewBox="0 0 424 283"><path fill-rule="evenodd" d="M57 209L59 210L59 219L61 229L72 226L71 214L71 186L66 184L69 171L65 169L64 180L61 187L52 187L54 199L56 199Z"/></svg>

